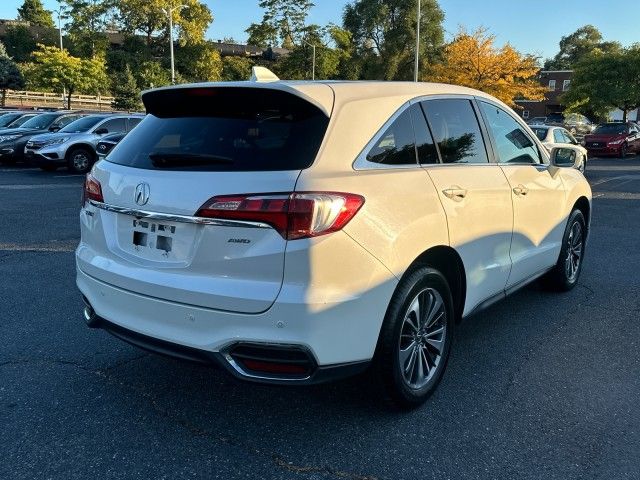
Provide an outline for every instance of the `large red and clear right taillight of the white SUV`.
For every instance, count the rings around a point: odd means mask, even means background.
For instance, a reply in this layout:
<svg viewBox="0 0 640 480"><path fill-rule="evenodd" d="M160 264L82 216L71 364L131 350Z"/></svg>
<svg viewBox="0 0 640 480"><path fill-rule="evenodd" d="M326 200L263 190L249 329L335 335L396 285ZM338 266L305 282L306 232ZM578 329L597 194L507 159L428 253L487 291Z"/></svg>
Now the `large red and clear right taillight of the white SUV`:
<svg viewBox="0 0 640 480"><path fill-rule="evenodd" d="M364 197L339 192L224 195L207 200L196 216L266 223L296 240L342 229L363 204Z"/></svg>

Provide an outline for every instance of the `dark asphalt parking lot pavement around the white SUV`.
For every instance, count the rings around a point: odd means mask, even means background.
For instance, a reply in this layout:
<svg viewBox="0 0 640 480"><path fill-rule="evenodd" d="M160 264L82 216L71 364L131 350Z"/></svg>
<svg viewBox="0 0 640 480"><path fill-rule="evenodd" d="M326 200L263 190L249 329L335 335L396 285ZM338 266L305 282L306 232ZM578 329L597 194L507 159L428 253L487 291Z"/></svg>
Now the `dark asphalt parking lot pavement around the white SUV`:
<svg viewBox="0 0 640 480"><path fill-rule="evenodd" d="M587 178L577 288L463 322L437 392L399 413L365 378L240 383L86 328L82 177L0 168L0 478L640 478L640 157Z"/></svg>

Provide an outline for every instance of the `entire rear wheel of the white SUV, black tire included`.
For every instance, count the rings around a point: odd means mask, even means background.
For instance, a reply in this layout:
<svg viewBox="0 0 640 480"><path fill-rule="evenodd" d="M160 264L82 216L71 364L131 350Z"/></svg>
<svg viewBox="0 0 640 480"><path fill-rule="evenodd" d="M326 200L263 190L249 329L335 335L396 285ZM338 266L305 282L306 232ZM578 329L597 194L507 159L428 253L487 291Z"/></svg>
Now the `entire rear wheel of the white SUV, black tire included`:
<svg viewBox="0 0 640 480"><path fill-rule="evenodd" d="M423 299L422 302L420 298ZM436 320L429 327L426 321L427 313L430 313L428 307L438 305L438 298L442 301L442 308L434 314L433 318ZM433 299L434 303L427 304L429 299ZM421 327L424 330L422 334L411 323L411 320L416 319L415 311L411 309L415 302L423 306L421 311L425 318ZM400 281L387 308L370 371L376 386L382 389L387 400L398 407L410 409L431 396L447 365L454 324L451 291L440 272L428 267L418 267ZM442 333L437 335L440 327ZM434 342L440 344L439 354ZM405 360L401 360L401 355ZM425 373L425 362L431 369L427 368L427 375L423 375L422 380L418 381L419 374ZM414 378L415 382L412 384Z"/></svg>

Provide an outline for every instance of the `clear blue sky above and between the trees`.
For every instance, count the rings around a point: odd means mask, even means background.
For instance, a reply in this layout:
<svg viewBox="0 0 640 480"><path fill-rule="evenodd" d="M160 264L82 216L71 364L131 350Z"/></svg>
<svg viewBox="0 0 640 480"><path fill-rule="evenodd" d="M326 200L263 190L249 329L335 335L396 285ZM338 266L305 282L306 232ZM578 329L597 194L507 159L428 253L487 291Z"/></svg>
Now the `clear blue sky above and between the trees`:
<svg viewBox="0 0 640 480"><path fill-rule="evenodd" d="M15 18L23 0L0 0L0 18ZM56 0L44 0L45 8L53 10ZM208 38L219 40L233 37L246 40L244 30L259 22L262 11L258 0L204 0L214 15ZM320 25L341 23L347 0L315 0L309 23ZM623 45L640 42L640 1L624 2L620 8L606 8L607 0L440 0L445 12L444 28L451 38L460 26L467 30L485 27L496 35L498 45L510 42L523 53L543 58L552 57L558 42L586 24L595 25L605 40L617 40Z"/></svg>

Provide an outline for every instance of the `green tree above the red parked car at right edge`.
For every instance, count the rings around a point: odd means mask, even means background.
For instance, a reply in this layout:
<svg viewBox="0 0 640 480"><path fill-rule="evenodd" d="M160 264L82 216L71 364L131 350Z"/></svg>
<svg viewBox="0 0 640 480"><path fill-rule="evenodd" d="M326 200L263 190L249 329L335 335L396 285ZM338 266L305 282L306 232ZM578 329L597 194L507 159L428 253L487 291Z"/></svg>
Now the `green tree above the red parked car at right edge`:
<svg viewBox="0 0 640 480"><path fill-rule="evenodd" d="M568 111L606 117L619 108L623 120L640 107L640 46L618 52L595 51L576 64L571 88L560 98Z"/></svg>

